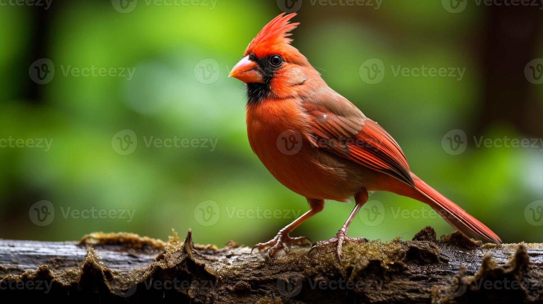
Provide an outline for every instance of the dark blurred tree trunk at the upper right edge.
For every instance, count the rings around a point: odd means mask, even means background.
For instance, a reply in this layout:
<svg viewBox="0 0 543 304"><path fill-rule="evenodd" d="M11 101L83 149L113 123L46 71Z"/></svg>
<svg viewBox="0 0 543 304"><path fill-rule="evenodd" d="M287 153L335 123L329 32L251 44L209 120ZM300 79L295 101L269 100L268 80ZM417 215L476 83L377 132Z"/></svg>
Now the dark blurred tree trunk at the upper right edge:
<svg viewBox="0 0 543 304"><path fill-rule="evenodd" d="M473 121L474 130L484 134L499 123L513 126L522 134L543 137L543 102L536 94L538 85L524 73L528 62L543 58L543 10L540 7L484 7L488 23L481 33L479 56L482 66L483 95Z"/></svg>

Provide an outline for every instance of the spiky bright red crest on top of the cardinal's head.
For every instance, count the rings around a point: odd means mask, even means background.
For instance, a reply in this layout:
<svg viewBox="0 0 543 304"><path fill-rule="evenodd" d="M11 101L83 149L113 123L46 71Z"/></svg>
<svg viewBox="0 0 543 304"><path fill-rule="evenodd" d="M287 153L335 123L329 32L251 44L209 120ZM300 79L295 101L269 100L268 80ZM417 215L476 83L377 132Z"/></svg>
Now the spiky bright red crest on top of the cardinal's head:
<svg viewBox="0 0 543 304"><path fill-rule="evenodd" d="M291 23L292 17L296 16L296 13L288 14L285 16L283 12L281 15L275 17L266 26L264 26L252 39L247 49L245 49L245 55L254 54L257 57L264 57L273 54L280 54L283 57L291 58L293 62L302 64L307 62L307 59L298 50L291 46L292 39L289 31L293 30L300 24L300 22Z"/></svg>

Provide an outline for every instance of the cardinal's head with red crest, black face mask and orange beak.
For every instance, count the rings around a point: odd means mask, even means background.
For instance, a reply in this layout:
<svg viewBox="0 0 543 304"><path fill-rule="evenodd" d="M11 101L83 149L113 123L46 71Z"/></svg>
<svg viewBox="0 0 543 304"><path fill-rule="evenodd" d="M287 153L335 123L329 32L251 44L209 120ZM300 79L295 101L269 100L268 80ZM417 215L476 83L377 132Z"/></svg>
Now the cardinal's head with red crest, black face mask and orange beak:
<svg viewBox="0 0 543 304"><path fill-rule="evenodd" d="M249 43L244 57L232 68L230 76L247 84L249 103L269 96L287 97L289 88L307 80L313 69L304 55L291 45L288 32L298 26L290 23L296 13L275 17Z"/></svg>

